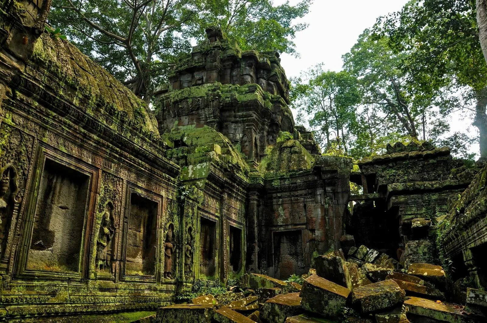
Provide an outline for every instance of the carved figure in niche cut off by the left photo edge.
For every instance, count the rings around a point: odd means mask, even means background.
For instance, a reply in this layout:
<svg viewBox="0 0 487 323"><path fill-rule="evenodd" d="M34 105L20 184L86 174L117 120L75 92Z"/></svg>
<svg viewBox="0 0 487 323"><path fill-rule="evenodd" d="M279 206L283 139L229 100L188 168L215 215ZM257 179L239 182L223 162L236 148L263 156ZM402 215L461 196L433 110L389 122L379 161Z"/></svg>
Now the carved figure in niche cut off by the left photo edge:
<svg viewBox="0 0 487 323"><path fill-rule="evenodd" d="M13 204L19 203L16 200L19 189L14 166L7 164L0 169L0 174L0 257L2 257L7 243L8 227L14 211Z"/></svg>

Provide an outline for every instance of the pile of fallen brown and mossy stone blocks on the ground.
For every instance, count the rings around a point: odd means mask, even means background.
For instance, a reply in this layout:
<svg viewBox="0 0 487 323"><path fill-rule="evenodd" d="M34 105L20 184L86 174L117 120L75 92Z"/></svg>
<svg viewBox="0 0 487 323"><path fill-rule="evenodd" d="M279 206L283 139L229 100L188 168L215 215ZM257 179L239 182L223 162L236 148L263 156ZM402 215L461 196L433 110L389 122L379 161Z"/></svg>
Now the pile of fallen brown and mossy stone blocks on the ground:
<svg viewBox="0 0 487 323"><path fill-rule="evenodd" d="M155 322L221 323L469 323L487 322L487 293L469 288L466 305L445 301L440 266L407 268L385 253L352 247L314 259L303 284L245 274L244 292L204 295L157 311Z"/></svg>

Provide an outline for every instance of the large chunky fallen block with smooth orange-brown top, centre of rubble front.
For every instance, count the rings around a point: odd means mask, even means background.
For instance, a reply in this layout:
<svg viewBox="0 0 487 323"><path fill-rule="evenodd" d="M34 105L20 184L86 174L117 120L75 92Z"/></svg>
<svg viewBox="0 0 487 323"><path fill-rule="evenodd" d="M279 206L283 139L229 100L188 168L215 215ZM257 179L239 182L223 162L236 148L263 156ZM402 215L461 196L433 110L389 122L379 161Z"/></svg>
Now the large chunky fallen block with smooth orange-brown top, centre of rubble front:
<svg viewBox="0 0 487 323"><path fill-rule="evenodd" d="M345 307L350 290L312 275L303 282L301 306L326 317L338 317Z"/></svg>

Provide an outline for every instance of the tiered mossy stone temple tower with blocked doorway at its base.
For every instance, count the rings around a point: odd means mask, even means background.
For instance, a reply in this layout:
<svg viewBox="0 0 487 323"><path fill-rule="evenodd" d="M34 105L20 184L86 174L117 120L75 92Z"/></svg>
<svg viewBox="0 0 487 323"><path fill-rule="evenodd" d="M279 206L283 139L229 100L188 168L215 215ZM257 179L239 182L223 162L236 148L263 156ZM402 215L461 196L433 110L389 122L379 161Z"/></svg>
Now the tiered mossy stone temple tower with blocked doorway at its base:
<svg viewBox="0 0 487 323"><path fill-rule="evenodd" d="M223 220L224 236L242 228L247 271L307 272L313 253L340 247L352 162L322 156L294 125L277 52L242 51L218 28L206 34L156 91L167 157L206 198L221 192L213 200L224 211L212 220Z"/></svg>

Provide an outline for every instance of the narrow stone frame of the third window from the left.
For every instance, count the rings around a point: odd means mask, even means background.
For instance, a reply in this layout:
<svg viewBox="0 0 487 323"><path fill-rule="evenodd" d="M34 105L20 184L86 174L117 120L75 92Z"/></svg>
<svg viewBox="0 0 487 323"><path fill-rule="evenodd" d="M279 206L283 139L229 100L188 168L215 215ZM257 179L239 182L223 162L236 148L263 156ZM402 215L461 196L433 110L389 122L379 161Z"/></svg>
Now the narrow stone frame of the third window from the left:
<svg viewBox="0 0 487 323"><path fill-rule="evenodd" d="M206 220L209 220L209 221L213 221L215 222L215 230L216 230L216 241L215 241L215 245L216 245L216 251L215 251L215 279L214 281L216 282L219 282L220 281L220 277L221 277L221 274L220 274L220 270L221 270L221 266L220 266L220 262L219 259L221 259L222 257L222 248L221 248L221 243L222 243L222 239L220 237L221 234L223 234L221 231L221 224L220 224L220 221L221 221L221 218L220 216L218 215L212 215L210 213L208 213L207 211L203 210L203 209L200 209L198 208L198 214L196 216L196 228L198 229L197 230L197 240L198 243L196 244L197 245L197 248L195 248L195 251L194 251L194 254L195 254L195 257L193 257L193 272L194 272L194 277L196 280L202 280L202 281L212 281L212 280L207 280L206 279L206 275L202 275L200 273L200 249L201 249L201 246L200 246L200 241L201 241L201 218L205 218ZM222 264L223 265L223 264Z"/></svg>

